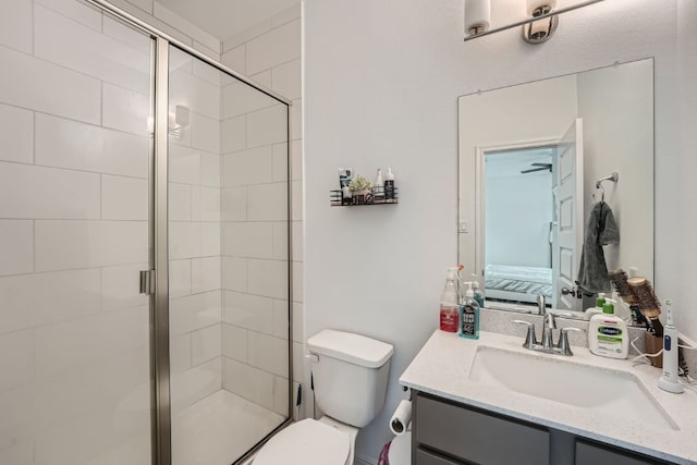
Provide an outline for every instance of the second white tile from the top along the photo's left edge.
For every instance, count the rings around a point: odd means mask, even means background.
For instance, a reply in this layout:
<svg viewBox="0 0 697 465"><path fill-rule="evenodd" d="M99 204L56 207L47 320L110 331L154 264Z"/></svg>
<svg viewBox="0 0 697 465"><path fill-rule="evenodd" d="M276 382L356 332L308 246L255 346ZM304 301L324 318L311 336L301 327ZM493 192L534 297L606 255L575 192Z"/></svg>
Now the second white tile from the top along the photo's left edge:
<svg viewBox="0 0 697 465"><path fill-rule="evenodd" d="M4 47L0 63L1 102L99 124L99 79Z"/></svg>

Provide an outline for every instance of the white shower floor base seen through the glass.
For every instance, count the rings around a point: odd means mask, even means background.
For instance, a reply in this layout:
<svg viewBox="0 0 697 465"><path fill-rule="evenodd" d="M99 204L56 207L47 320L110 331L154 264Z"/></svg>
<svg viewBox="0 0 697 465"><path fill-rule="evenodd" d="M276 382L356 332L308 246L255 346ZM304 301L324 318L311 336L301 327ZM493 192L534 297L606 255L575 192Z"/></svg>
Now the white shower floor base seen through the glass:
<svg viewBox="0 0 697 465"><path fill-rule="evenodd" d="M173 465L230 465L284 417L220 390L173 415ZM90 465L149 465L149 431L133 438Z"/></svg>

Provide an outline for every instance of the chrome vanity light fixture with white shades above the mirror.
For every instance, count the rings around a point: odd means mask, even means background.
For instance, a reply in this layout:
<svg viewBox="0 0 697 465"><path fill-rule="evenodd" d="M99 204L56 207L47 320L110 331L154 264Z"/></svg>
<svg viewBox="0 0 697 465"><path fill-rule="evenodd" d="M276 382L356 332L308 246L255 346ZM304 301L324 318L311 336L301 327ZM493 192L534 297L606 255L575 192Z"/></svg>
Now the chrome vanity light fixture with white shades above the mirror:
<svg viewBox="0 0 697 465"><path fill-rule="evenodd" d="M564 7L559 10L555 10L557 0L525 1L527 14L524 20L491 29L489 28L491 11L490 0L486 0L486 5L484 5L486 7L486 16L481 15L481 12L485 10L484 7L479 5L479 3L485 3L482 0L465 0L465 41L510 29L512 27L523 26L523 39L526 42L542 44L543 41L549 40L557 29L560 14L588 7L589 4L598 3L603 0L579 1L578 3L570 4L568 7ZM470 4L473 4L473 7L470 7ZM486 19L486 26L477 27L477 24L474 21L477 20L475 14L479 14L481 16L480 19Z"/></svg>

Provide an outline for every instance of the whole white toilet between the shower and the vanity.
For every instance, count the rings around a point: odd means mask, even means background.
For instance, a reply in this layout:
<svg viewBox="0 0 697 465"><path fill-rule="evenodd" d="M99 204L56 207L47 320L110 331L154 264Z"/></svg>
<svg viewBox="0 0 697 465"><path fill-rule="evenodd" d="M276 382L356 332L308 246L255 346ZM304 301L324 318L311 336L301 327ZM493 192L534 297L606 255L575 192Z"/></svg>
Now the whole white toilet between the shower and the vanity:
<svg viewBox="0 0 697 465"><path fill-rule="evenodd" d="M280 431L253 465L353 465L358 429L380 413L392 345L350 332L325 330L307 340L315 400L326 416Z"/></svg>

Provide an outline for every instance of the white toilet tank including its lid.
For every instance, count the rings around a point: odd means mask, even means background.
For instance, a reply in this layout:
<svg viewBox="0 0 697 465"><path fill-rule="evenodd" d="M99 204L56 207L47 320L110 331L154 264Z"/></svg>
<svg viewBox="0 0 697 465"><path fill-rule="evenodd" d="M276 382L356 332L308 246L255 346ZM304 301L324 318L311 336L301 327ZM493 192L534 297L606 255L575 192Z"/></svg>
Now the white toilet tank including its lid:
<svg viewBox="0 0 697 465"><path fill-rule="evenodd" d="M315 400L328 416L363 428L384 404L391 344L364 335L325 330L307 340Z"/></svg>

